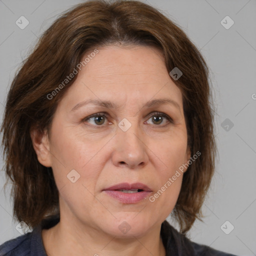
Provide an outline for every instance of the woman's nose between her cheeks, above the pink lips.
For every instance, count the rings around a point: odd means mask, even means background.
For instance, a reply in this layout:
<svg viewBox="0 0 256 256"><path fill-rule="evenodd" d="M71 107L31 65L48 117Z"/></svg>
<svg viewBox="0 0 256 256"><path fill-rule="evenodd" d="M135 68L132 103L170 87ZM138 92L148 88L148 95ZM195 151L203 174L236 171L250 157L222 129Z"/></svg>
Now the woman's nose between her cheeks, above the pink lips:
<svg viewBox="0 0 256 256"><path fill-rule="evenodd" d="M123 131L117 128L112 161L115 166L141 168L148 162L146 136L136 124Z"/></svg>

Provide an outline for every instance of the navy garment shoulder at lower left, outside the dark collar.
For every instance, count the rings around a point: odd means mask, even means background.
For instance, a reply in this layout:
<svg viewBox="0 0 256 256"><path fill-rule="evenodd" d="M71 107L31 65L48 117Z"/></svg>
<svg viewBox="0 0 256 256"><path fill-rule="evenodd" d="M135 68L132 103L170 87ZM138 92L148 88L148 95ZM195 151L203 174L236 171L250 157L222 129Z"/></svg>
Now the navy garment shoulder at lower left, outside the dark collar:
<svg viewBox="0 0 256 256"><path fill-rule="evenodd" d="M10 239L0 245L0 256L26 256L30 251L31 232Z"/></svg>

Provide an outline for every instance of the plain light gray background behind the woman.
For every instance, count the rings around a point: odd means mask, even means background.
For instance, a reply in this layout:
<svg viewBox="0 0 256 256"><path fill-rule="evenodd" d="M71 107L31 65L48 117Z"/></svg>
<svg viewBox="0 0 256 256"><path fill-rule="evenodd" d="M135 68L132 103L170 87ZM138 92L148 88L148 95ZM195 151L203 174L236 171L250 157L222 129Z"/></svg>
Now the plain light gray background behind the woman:
<svg viewBox="0 0 256 256"><path fill-rule="evenodd" d="M0 0L1 118L15 70L37 36L58 13L79 2ZM200 49L211 72L219 159L203 205L204 222L196 221L189 237L237 255L256 255L256 94L253 94L256 93L256 1L146 2L183 28ZM24 29L15 24L21 15L29 21ZM229 29L220 23L226 15L234 21ZM228 120L223 123L226 118ZM224 126L226 124L228 127ZM2 160L0 165L3 165ZM0 243L20 235L15 229L17 223L12 222L9 194L5 197L2 189L4 182L4 173L0 171ZM226 220L234 226L229 234L220 229ZM224 227L228 230L230 224Z"/></svg>

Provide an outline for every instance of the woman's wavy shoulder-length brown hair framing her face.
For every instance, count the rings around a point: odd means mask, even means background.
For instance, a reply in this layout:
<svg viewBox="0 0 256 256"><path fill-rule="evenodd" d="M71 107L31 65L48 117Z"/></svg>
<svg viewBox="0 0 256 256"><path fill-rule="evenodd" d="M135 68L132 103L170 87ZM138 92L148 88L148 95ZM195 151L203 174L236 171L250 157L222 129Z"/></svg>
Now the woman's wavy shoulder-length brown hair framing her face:
<svg viewBox="0 0 256 256"><path fill-rule="evenodd" d="M154 7L133 0L91 0L73 6L44 31L16 72L1 125L13 218L34 228L47 216L59 214L52 169L38 162L30 131L50 131L58 102L77 75L49 99L56 85L77 68L85 52L112 44L153 46L163 54L168 72L174 67L182 71L173 81L182 92L187 145L191 156L201 153L184 172L172 210L180 232L186 233L195 219L202 217L200 208L214 171L209 71L199 50L177 24Z"/></svg>

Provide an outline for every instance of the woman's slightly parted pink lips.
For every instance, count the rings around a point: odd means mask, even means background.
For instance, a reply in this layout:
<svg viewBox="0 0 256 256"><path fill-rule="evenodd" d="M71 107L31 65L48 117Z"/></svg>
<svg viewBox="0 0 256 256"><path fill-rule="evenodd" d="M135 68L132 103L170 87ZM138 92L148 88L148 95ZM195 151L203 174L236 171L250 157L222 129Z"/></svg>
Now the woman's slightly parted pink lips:
<svg viewBox="0 0 256 256"><path fill-rule="evenodd" d="M119 183L103 191L122 203L136 203L149 196L152 190L143 183Z"/></svg>

